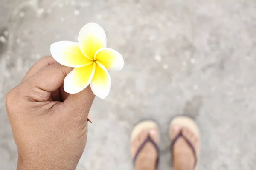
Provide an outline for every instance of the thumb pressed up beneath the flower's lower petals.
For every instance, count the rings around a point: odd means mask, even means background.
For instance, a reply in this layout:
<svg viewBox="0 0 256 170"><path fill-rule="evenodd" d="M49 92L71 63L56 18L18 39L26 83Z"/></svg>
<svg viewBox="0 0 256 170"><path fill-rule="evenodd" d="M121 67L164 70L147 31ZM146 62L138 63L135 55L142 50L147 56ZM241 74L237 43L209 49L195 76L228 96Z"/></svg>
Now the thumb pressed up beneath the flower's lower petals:
<svg viewBox="0 0 256 170"><path fill-rule="evenodd" d="M90 85L77 94L69 94L67 99L62 103L69 113L75 116L83 117L87 120L90 108L93 104L95 95L90 89Z"/></svg>

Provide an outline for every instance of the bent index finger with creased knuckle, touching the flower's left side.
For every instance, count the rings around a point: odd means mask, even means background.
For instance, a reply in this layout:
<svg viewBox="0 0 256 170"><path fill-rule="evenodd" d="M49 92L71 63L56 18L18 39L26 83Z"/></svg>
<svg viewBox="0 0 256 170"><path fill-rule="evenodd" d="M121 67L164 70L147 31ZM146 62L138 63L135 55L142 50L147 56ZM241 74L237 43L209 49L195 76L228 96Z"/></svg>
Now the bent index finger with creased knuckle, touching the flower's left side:
<svg viewBox="0 0 256 170"><path fill-rule="evenodd" d="M47 66L20 84L22 94L32 101L47 101L73 68L58 63Z"/></svg>

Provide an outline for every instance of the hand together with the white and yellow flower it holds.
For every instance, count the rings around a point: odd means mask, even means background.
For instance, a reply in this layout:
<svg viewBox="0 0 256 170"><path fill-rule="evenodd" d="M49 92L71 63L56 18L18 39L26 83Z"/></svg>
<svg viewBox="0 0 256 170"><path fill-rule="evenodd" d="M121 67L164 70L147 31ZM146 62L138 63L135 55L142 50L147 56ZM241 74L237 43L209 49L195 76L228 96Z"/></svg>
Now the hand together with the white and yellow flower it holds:
<svg viewBox="0 0 256 170"><path fill-rule="evenodd" d="M17 170L75 170L86 144L94 94L105 98L108 71L123 67L122 56L106 48L105 32L95 23L81 29L79 43L56 42L51 52L54 58L35 63L6 95Z"/></svg>

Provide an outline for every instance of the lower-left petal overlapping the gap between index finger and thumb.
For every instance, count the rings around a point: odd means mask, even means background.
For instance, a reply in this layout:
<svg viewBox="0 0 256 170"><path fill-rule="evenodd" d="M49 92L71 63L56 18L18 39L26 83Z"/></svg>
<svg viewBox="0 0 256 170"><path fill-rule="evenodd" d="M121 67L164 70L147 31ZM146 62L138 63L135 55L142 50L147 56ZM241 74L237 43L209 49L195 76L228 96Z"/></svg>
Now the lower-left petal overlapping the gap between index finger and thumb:
<svg viewBox="0 0 256 170"><path fill-rule="evenodd" d="M96 63L74 68L64 79L64 91L69 94L76 94L87 88L93 79Z"/></svg>

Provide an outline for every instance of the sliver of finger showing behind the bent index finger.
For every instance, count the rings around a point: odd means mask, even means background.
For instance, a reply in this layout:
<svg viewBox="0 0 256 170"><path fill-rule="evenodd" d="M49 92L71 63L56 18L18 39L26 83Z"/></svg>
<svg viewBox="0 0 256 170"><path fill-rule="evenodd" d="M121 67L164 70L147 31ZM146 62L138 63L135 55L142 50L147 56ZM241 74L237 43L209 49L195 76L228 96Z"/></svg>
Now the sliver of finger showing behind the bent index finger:
<svg viewBox="0 0 256 170"><path fill-rule="evenodd" d="M56 63L55 59L52 56L44 56L38 62L36 62L26 73L25 77L22 79L21 82L26 81L29 77L33 76L39 70L46 68L49 65Z"/></svg>

